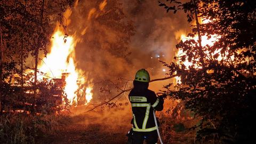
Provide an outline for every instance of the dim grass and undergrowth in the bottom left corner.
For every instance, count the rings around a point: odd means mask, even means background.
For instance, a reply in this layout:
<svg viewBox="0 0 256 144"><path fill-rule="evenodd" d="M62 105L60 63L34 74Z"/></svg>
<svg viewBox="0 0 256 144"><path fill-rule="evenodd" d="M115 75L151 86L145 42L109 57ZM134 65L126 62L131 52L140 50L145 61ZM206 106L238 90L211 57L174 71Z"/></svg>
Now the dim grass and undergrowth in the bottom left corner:
<svg viewBox="0 0 256 144"><path fill-rule="evenodd" d="M42 138L59 130L62 119L69 118L60 115L29 115L12 113L0 116L1 143L44 143Z"/></svg>

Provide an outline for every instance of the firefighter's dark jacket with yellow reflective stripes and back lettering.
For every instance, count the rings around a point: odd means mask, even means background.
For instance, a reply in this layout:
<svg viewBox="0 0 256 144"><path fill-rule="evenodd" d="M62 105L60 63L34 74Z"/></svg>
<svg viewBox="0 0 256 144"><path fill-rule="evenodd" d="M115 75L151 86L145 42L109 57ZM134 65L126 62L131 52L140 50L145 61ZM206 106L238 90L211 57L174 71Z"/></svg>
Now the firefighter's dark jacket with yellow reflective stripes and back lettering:
<svg viewBox="0 0 256 144"><path fill-rule="evenodd" d="M163 110L163 100L159 100L155 92L147 88L139 91L133 88L129 94L129 100L133 112L133 131L150 132L156 130L153 108L157 111Z"/></svg>

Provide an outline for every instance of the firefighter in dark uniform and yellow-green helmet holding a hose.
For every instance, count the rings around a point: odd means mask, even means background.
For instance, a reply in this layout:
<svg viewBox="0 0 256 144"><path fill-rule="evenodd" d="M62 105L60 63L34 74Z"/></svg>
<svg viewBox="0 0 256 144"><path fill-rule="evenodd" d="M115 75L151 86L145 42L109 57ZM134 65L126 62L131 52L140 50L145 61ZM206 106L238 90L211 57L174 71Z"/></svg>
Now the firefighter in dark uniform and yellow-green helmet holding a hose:
<svg viewBox="0 0 256 144"><path fill-rule="evenodd" d="M140 69L135 74L133 89L129 93L132 105L133 127L130 131L130 143L157 143L157 126L154 121L154 109L163 110L163 98L157 98L154 91L148 90L150 77L146 69ZM159 125L159 124L158 124Z"/></svg>

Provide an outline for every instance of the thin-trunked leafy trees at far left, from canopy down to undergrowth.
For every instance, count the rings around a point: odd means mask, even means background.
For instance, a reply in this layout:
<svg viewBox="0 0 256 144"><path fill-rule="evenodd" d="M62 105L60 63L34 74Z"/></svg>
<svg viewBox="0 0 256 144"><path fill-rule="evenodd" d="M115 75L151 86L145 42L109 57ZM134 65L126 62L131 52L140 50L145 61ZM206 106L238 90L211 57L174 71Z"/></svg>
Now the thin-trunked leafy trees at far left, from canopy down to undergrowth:
<svg viewBox="0 0 256 144"><path fill-rule="evenodd" d="M36 89L38 54L40 51L47 54L55 21L73 3L72 0L0 2L1 84L5 86L0 87L1 111L6 97L12 95L13 86L23 86L26 69L34 69ZM24 66L29 55L35 59L34 68Z"/></svg>

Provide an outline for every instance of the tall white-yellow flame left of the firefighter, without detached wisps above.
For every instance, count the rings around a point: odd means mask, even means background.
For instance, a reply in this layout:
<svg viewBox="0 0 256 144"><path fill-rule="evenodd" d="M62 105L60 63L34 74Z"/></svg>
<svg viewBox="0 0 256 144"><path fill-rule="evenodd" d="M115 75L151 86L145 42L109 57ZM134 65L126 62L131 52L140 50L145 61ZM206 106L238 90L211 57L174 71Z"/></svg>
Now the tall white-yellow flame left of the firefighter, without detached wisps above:
<svg viewBox="0 0 256 144"><path fill-rule="evenodd" d="M47 54L47 57L43 59L43 63L39 66L39 70L43 71L47 76L53 78L62 78L64 83L64 91L67 94L67 98L70 104L76 105L78 101L77 92L81 91L83 87L79 85L85 82L84 75L81 70L76 69L75 65L75 36L68 36L65 39L65 35L61 30L55 30L51 40L51 50ZM86 88L85 103L90 102L92 99L92 87ZM82 92L83 93L83 92ZM81 94L79 94L81 95Z"/></svg>

